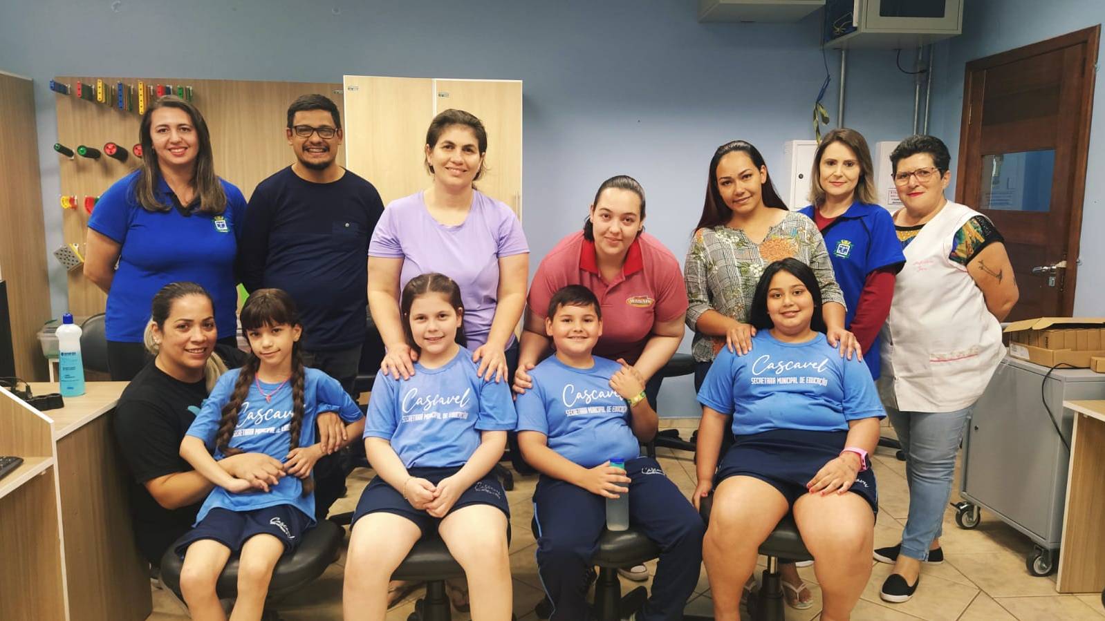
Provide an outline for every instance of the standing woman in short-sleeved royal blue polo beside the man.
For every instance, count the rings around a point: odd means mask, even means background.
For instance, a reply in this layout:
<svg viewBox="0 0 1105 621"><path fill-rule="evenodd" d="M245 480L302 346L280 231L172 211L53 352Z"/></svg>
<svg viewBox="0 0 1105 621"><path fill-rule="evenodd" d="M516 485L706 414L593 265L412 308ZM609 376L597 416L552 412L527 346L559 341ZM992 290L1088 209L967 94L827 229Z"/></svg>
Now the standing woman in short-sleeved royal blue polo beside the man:
<svg viewBox="0 0 1105 621"><path fill-rule="evenodd" d="M169 282L203 286L219 342L236 346L234 257L242 192L214 174L207 122L167 95L143 115L138 170L107 189L88 218L84 275L107 293L107 364L129 382L146 365L143 332L154 295Z"/></svg>

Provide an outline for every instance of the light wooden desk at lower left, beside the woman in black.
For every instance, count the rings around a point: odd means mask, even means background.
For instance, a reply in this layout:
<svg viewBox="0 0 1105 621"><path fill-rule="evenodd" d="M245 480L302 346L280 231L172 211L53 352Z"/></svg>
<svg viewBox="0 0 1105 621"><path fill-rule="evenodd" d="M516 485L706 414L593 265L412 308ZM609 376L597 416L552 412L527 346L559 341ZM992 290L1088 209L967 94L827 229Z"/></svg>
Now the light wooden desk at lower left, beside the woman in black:
<svg viewBox="0 0 1105 621"><path fill-rule="evenodd" d="M126 469L112 433L112 415L126 385L88 383L84 395L69 397L64 408L45 413L7 390L0 395L0 453L24 458L19 471L0 480L0 524L8 525L0 532L0 548L21 552L7 547L10 536L13 545L41 556L36 565L49 566L56 559L60 574L56 581L41 580L39 570L12 565L35 588L0 582L0 619L138 621L149 615L149 577L135 545ZM36 383L31 389L36 395L55 393L57 385ZM8 425L12 426L10 437ZM6 437L23 438L24 445L33 440L38 447L9 446ZM34 448L36 452L29 450ZM35 477L35 469L51 477ZM40 483L43 490L38 494L53 501L52 515L48 515L50 503L30 490L22 497L11 492L6 495L7 488L22 490L30 481L46 481ZM9 501L7 496L12 497ZM6 520L9 515L11 520ZM12 524L17 527L9 535ZM36 595L32 597L32 592ZM53 608L41 608L49 602ZM12 608L9 614L9 604L40 608Z"/></svg>

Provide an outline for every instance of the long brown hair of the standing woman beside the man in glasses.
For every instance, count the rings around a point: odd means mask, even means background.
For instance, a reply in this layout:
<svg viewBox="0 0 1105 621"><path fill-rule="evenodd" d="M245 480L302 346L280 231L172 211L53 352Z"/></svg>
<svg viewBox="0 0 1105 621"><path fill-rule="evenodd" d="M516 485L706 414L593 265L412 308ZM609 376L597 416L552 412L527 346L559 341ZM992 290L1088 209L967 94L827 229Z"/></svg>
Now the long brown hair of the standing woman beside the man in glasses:
<svg viewBox="0 0 1105 621"><path fill-rule="evenodd" d="M222 183L214 174L214 156L211 150L211 133L207 121L196 106L176 95L166 95L146 109L138 127L138 143L141 144L141 165L135 180L135 200L149 212L167 212L172 205L166 205L157 200L157 182L161 179L161 167L154 151L154 137L150 136L154 110L159 108L178 108L185 111L192 121L192 128L199 138L199 153L196 156L196 169L192 172L192 186L200 199L200 212L221 215L227 210L227 193ZM187 205L185 205L187 206Z"/></svg>

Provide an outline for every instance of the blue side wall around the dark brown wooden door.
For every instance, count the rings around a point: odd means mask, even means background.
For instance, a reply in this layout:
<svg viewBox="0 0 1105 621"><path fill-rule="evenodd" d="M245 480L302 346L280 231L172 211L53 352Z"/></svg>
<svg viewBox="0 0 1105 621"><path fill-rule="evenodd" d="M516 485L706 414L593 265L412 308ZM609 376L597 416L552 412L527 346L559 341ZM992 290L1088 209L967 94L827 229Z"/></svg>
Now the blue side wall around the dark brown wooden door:
<svg viewBox="0 0 1105 621"><path fill-rule="evenodd" d="M953 175L958 161L962 118L964 72L975 58L1044 41L1105 22L1102 0L967 0L961 36L935 46L933 113L928 130L951 150ZM1102 45L1105 49L1105 45ZM1098 51L1098 64L1101 63ZM1082 207L1081 267L1074 296L1074 314L1101 317L1105 312L1105 72L1097 72L1090 128L1086 194ZM953 176L955 186L957 180ZM953 192L949 190L949 195Z"/></svg>

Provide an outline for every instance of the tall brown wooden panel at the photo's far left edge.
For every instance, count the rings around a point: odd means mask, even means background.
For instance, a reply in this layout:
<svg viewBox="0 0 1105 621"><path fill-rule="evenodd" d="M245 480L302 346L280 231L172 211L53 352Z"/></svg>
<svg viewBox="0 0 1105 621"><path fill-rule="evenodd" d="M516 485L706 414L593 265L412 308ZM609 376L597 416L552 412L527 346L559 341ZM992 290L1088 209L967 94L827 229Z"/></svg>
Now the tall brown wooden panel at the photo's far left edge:
<svg viewBox="0 0 1105 621"><path fill-rule="evenodd" d="M51 317L50 281L30 79L0 72L0 277L8 282L15 373L45 379L36 333Z"/></svg>

